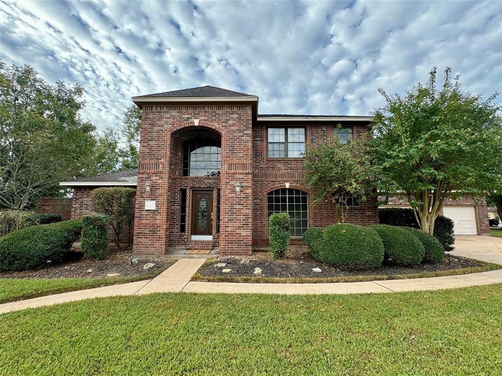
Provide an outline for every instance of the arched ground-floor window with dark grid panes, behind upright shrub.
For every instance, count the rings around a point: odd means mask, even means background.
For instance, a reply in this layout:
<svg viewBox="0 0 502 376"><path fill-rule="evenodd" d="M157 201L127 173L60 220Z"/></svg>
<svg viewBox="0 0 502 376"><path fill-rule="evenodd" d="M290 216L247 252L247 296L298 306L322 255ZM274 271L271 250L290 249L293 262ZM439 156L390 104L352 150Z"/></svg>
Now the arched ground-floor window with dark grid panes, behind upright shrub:
<svg viewBox="0 0 502 376"><path fill-rule="evenodd" d="M273 213L288 213L291 236L302 236L308 229L307 194L293 188L282 188L267 194L267 218Z"/></svg>

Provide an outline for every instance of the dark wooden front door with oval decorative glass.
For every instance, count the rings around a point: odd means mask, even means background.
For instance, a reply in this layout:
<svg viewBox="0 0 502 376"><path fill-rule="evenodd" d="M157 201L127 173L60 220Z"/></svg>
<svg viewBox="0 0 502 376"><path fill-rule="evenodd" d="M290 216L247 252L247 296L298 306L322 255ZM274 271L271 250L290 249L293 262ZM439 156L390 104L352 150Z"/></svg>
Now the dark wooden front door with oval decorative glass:
<svg viewBox="0 0 502 376"><path fill-rule="evenodd" d="M192 191L192 235L213 234L213 191Z"/></svg>

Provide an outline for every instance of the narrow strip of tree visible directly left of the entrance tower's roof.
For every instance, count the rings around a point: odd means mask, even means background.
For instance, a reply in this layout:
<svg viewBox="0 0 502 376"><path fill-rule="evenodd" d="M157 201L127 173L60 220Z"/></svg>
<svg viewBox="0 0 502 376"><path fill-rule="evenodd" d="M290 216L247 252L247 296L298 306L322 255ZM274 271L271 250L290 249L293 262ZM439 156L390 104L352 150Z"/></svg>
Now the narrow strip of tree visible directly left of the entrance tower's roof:
<svg viewBox="0 0 502 376"><path fill-rule="evenodd" d="M120 150L120 169L127 170L138 168L140 156L140 127L141 110L138 106L132 105L127 108L122 118L120 132L126 140L126 146Z"/></svg>

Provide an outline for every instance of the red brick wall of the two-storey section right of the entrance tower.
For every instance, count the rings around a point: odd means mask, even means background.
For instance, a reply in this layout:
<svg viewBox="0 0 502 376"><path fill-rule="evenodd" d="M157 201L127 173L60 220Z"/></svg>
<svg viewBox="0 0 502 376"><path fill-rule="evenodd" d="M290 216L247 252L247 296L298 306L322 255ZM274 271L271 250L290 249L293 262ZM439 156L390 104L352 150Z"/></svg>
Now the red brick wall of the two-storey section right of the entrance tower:
<svg viewBox="0 0 502 376"><path fill-rule="evenodd" d="M329 139L337 124L338 122L333 122L305 126L307 142L316 144ZM361 138L368 133L368 128L365 125L352 124L341 125L352 128L354 138ZM290 188L308 194L309 227L324 227L336 223L336 214L331 203L325 202L317 206L312 204L312 192L302 184L304 179L303 159L267 157L267 127L272 125L280 126L274 123L253 127L253 245L257 246L268 242L267 194L276 189L285 188L286 183L289 183ZM364 226L378 223L376 202L376 198L371 198L368 195L367 200L361 201L360 206L349 209L347 222ZM293 238L292 242L296 243L298 240Z"/></svg>

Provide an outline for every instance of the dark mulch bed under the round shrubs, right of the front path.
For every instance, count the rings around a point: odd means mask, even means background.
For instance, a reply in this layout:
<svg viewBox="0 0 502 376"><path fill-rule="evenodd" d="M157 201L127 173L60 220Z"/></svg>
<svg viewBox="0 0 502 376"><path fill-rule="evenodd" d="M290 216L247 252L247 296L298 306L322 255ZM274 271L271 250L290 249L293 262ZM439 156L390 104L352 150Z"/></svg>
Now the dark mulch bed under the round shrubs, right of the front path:
<svg viewBox="0 0 502 376"><path fill-rule="evenodd" d="M226 264L216 267L216 264ZM273 278L332 278L352 276L392 276L438 272L453 269L481 267L486 264L465 257L448 256L438 264L421 264L416 267L399 267L384 265L371 269L348 269L323 264L310 256L305 247L291 247L284 260L271 260L266 252L255 252L251 257L225 257L199 269L203 277L273 277ZM262 269L259 276L254 274L255 268ZM313 272L320 268L321 272ZM223 273L223 269L231 269Z"/></svg>

